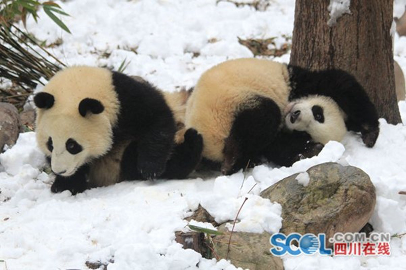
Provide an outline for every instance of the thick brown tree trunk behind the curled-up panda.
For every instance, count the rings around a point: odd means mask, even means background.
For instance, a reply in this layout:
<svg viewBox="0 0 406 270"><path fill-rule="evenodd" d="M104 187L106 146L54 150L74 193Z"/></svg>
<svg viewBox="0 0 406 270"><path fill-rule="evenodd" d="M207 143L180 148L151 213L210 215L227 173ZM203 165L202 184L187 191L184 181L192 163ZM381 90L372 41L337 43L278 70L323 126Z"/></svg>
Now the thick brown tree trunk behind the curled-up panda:
<svg viewBox="0 0 406 270"><path fill-rule="evenodd" d="M393 0L351 0L351 14L333 26L329 1L296 0L290 64L350 72L368 93L379 117L401 123L393 73Z"/></svg>

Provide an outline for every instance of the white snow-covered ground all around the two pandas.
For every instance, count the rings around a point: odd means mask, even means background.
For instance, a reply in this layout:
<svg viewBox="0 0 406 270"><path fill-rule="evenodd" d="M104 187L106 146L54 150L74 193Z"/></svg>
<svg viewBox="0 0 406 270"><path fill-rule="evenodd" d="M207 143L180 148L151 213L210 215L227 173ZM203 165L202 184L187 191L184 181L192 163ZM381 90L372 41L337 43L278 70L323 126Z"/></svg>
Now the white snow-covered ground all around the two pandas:
<svg viewBox="0 0 406 270"><path fill-rule="evenodd" d="M396 16L402 14L405 2L395 1ZM69 65L116 69L126 59L125 73L143 76L166 91L193 86L202 71L216 63L251 57L238 37L277 37L280 46L283 36L291 36L293 30L294 0L270 1L264 12L226 2L216 5L216 0L58 4L72 16L62 18L72 35L43 12L38 24L32 19L27 22L27 29L47 44L62 41L50 49L56 57ZM406 37L395 36L395 60L406 71L405 48ZM276 60L288 62L289 54ZM399 103L399 108L406 121L406 103ZM398 195L406 190L405 157L406 127L381 120L381 134L371 149L349 133L342 144L330 142L318 157L290 168L261 165L246 176L207 173L176 181L123 182L73 197L68 191L51 194L52 177L41 172L44 157L35 134L24 133L0 155L0 269L1 260L8 270L87 269L86 261L109 260L114 260L109 270L235 269L225 260L207 260L183 250L174 240L174 232L185 229L183 218L201 204L217 221L227 221L248 197L235 229L277 232L281 207L261 199L259 192L327 161L354 165L368 173L378 196L370 222L379 232L406 233L406 196ZM284 265L286 269L406 268L406 237L393 239L391 252L390 257L285 257Z"/></svg>

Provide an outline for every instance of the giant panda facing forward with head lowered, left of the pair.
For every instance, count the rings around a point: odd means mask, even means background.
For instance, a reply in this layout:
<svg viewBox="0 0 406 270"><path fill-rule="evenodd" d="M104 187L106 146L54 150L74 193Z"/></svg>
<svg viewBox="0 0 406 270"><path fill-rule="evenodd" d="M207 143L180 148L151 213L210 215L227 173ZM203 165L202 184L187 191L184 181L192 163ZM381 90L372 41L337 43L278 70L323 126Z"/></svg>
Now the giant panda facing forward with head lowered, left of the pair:
<svg viewBox="0 0 406 270"><path fill-rule="evenodd" d="M178 103L170 107L145 81L105 68L68 67L34 102L37 142L56 175L53 192L185 178L200 160L201 136L188 129L183 142L175 144Z"/></svg>

